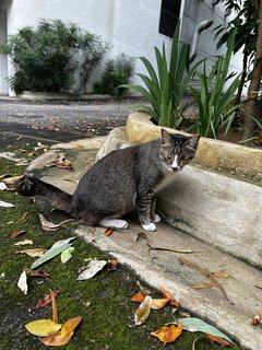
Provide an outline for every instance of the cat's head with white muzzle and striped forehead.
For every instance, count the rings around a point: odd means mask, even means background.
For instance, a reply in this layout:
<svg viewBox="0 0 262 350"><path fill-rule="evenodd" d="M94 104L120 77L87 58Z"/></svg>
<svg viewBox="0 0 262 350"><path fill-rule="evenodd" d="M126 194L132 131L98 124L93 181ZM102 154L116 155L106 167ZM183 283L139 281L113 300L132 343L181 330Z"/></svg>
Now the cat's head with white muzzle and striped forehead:
<svg viewBox="0 0 262 350"><path fill-rule="evenodd" d="M170 172L181 171L190 163L196 152L200 136L186 137L180 133L169 133L162 129L160 159L164 167Z"/></svg>

